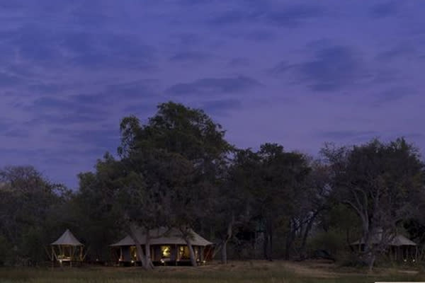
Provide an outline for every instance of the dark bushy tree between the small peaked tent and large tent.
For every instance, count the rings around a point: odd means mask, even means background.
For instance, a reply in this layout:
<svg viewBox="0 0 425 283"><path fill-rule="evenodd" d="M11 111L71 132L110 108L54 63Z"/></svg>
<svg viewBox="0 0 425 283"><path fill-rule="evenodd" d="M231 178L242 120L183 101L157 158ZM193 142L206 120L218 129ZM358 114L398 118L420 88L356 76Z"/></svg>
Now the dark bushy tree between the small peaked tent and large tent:
<svg viewBox="0 0 425 283"><path fill-rule="evenodd" d="M79 190L69 201L69 217L62 221L77 231L88 245L87 258L106 260L111 253L106 246L120 234L123 214L113 179L120 171L110 154L96 163L95 172L80 173Z"/></svg>

